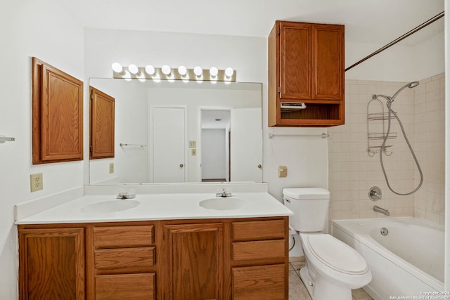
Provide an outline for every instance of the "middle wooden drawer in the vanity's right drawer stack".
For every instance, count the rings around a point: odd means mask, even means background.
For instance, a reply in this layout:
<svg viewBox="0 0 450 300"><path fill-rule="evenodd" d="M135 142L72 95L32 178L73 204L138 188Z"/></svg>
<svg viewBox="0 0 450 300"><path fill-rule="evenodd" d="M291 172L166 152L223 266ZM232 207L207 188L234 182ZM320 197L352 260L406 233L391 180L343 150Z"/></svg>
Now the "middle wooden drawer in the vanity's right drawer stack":
<svg viewBox="0 0 450 300"><path fill-rule="evenodd" d="M281 258L285 256L285 240L233 242L232 255L234 261Z"/></svg>

